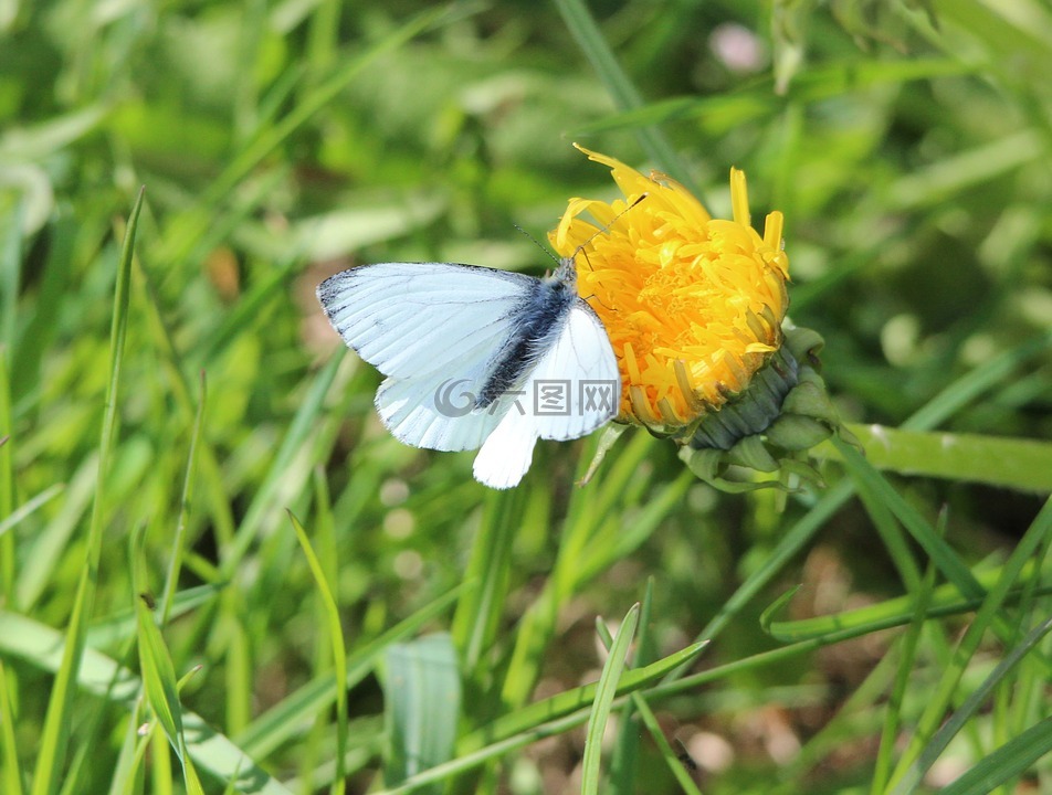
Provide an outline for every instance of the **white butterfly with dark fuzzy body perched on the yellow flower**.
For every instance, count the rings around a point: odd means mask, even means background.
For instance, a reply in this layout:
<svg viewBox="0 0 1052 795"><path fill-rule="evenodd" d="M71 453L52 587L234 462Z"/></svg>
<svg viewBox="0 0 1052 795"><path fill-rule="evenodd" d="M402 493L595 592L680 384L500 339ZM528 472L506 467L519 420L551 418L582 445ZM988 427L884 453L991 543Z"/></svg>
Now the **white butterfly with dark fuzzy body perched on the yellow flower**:
<svg viewBox="0 0 1052 795"><path fill-rule="evenodd" d="M618 362L577 293L574 258L543 279L450 263L381 263L318 286L344 341L387 379L376 394L401 442L481 447L474 475L509 488L538 438L572 439L617 414Z"/></svg>

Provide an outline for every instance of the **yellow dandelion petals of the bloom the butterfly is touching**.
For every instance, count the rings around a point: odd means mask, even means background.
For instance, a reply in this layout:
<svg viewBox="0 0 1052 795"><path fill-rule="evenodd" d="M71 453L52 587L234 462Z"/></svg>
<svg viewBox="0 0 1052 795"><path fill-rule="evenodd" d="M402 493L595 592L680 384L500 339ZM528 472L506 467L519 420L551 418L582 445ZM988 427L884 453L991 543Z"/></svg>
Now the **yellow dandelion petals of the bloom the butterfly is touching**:
<svg viewBox="0 0 1052 795"><path fill-rule="evenodd" d="M549 239L561 256L577 253L578 292L610 335L621 370L618 420L685 437L745 392L781 347L782 215L767 216L762 236L749 225L738 169L726 221L664 174L644 177L578 149L610 167L624 199L571 199ZM586 212L596 223L580 218Z"/></svg>

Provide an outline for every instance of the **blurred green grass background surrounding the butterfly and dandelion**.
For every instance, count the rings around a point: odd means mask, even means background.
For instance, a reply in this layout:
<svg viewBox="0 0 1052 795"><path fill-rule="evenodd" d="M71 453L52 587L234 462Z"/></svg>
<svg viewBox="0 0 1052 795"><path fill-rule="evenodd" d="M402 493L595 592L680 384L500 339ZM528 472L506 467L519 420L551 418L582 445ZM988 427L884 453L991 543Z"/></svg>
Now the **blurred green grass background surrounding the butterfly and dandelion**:
<svg viewBox="0 0 1052 795"><path fill-rule="evenodd" d="M1041 0L0 2L0 791L1052 792L1050 73ZM315 285L539 273L571 140L785 211L867 458L383 432Z"/></svg>

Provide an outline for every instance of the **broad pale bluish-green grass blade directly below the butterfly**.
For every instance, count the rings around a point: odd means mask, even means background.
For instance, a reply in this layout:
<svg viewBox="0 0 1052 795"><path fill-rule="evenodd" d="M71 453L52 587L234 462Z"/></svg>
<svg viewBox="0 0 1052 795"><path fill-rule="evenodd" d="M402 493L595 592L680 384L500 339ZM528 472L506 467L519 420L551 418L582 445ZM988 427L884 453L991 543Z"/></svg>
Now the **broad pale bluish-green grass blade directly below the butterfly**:
<svg viewBox="0 0 1052 795"><path fill-rule="evenodd" d="M394 644L383 655L383 713L389 739L387 781L400 784L448 762L456 743L461 682L446 633ZM423 792L441 792L424 787Z"/></svg>

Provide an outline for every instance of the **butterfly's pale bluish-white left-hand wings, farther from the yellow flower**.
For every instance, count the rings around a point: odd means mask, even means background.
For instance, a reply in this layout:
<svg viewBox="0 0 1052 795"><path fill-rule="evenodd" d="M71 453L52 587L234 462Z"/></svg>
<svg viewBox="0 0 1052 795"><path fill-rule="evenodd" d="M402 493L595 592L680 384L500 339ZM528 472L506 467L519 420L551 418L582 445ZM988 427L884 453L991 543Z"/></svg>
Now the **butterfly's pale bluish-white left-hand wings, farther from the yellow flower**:
<svg viewBox="0 0 1052 795"><path fill-rule="evenodd" d="M401 442L475 449L506 406L474 405L537 279L449 263L381 263L345 271L318 300L348 346L388 378L380 418Z"/></svg>

